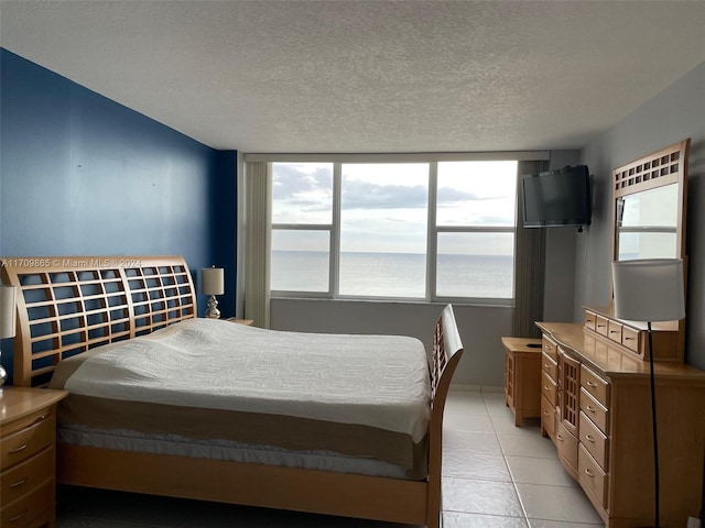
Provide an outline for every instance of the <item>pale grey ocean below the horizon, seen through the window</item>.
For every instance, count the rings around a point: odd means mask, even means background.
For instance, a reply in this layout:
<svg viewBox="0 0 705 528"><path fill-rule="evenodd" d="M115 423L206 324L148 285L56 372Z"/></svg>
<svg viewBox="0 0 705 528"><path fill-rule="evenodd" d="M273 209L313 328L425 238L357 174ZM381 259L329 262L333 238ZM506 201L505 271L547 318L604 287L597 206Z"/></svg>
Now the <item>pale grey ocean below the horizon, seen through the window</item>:
<svg viewBox="0 0 705 528"><path fill-rule="evenodd" d="M339 294L424 298L426 260L411 253L340 253ZM438 255L436 297L510 299L513 257ZM272 251L271 289L327 292L328 253Z"/></svg>

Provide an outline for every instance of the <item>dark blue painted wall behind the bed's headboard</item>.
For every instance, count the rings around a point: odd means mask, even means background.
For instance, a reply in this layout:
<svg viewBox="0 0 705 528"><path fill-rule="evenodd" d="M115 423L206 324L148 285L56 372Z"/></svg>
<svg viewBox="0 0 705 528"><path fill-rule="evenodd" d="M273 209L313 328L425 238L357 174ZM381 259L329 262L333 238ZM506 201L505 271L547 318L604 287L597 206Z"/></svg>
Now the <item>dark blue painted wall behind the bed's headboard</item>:
<svg viewBox="0 0 705 528"><path fill-rule="evenodd" d="M225 267L219 308L234 315L236 151L2 48L0 84L1 256L183 255L195 279Z"/></svg>

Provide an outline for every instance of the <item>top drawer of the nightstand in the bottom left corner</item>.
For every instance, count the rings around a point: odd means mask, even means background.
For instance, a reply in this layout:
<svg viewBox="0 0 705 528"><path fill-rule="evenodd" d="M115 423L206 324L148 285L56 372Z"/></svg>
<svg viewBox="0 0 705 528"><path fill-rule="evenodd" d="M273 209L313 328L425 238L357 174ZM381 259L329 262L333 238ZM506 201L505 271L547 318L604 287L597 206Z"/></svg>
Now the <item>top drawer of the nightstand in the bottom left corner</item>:
<svg viewBox="0 0 705 528"><path fill-rule="evenodd" d="M17 432L0 440L0 471L12 468L54 442L55 419L50 410L32 416Z"/></svg>

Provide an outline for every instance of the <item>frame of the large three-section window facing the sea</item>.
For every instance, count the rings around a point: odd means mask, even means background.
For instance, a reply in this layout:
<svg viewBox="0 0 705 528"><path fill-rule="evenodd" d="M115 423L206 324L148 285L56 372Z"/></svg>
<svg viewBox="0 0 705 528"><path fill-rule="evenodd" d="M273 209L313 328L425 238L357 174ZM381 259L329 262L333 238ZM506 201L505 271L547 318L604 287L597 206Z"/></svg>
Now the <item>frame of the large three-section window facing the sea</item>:
<svg viewBox="0 0 705 528"><path fill-rule="evenodd" d="M462 302L468 305L489 306L513 306L516 298L516 276L512 279L511 297L454 297L438 296L436 294L437 275L437 240L441 233L466 232L466 233L512 233L514 237L514 251L512 262L516 266L517 251L516 238L520 219L517 218L517 199L519 189L514 194L514 222L507 227L479 227L479 226L436 226L437 208L437 169L438 163L445 161L475 162L475 161L522 161L550 160L549 151L521 151L503 153L446 153L446 154L254 154L246 155L247 162L264 162L270 164L269 174L272 174L273 163L333 163L333 215L332 223L270 223L270 231L328 231L329 233L329 255L328 255L328 289L327 292L294 292L276 290L270 288L270 296L273 298L323 298L323 299L345 299L345 300L377 300L377 301L409 301L409 302ZM382 296L359 296L339 294L339 252L340 252L340 207L341 207L341 172L344 164L351 163L427 163L429 164L429 202L426 223L426 277L424 297L382 297ZM519 175L517 175L519 180ZM271 258L271 249L269 253Z"/></svg>

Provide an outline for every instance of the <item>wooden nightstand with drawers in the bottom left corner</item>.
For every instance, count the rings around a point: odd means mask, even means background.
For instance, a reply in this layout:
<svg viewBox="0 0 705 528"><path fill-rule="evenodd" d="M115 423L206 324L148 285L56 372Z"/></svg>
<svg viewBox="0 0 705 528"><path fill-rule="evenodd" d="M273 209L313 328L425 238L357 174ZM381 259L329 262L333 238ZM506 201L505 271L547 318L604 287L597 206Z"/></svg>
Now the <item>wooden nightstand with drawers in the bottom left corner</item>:
<svg viewBox="0 0 705 528"><path fill-rule="evenodd" d="M67 394L8 387L0 395L0 526L56 525L56 404Z"/></svg>

